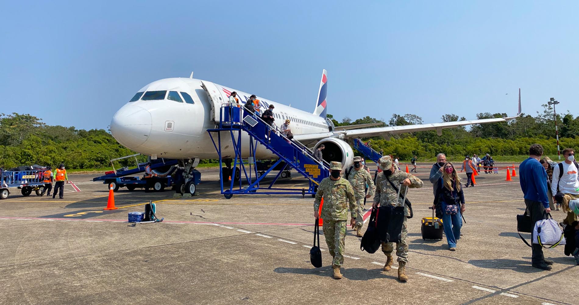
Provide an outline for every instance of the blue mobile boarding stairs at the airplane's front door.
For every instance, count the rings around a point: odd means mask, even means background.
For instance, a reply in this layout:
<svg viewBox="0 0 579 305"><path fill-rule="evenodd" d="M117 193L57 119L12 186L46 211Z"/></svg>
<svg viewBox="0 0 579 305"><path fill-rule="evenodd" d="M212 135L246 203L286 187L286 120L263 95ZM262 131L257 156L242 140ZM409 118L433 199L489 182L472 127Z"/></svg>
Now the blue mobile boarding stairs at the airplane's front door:
<svg viewBox="0 0 579 305"><path fill-rule="evenodd" d="M211 141L219 156L219 180L221 181L221 194L229 199L234 194L316 194L317 186L321 180L329 176L329 164L325 161L318 161L314 158L314 152L303 146L296 140L290 140L283 136L281 130L275 125L270 126L263 121L258 114L252 114L244 107L223 104L219 110L219 122L214 129L207 129L211 136ZM268 137L269 134L269 137ZM243 139L243 140L242 140ZM225 146L229 148L224 151ZM231 147L233 156L231 156ZM265 147L277 156L269 169L262 175L258 175L258 162L256 151L258 147ZM242 155L243 152L243 155ZM233 172L231 181L228 177L223 177L222 164L224 158L233 158ZM269 174L278 170L269 186L263 179ZM295 169L302 176L306 177L309 186L306 188L285 188L274 187L280 175L287 170L287 167ZM236 175L236 171L240 175ZM239 179L237 178L239 177Z"/></svg>

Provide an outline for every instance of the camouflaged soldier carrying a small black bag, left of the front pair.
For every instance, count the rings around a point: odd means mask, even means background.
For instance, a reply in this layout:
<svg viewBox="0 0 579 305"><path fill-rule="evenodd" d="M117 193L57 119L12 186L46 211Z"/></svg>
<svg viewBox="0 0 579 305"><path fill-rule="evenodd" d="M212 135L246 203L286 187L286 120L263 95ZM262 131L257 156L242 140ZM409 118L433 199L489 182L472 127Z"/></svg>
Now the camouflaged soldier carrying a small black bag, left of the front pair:
<svg viewBox="0 0 579 305"><path fill-rule="evenodd" d="M328 245L329 253L334 257L332 269L334 278L342 278L340 266L344 263L344 242L346 239L346 220L348 206L350 205L351 220L350 225L356 226L356 197L354 189L348 180L340 177L342 173L342 163L332 161L330 164L331 176L324 178L318 186L316 200L314 201L314 217L322 217L324 224L324 237ZM318 215L321 199L324 198L321 215Z"/></svg>

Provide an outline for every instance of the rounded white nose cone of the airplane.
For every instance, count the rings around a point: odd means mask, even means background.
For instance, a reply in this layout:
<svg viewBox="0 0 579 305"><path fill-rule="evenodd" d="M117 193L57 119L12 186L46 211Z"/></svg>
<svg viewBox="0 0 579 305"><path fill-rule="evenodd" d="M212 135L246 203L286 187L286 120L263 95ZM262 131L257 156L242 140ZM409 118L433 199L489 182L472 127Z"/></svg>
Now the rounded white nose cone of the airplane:
<svg viewBox="0 0 579 305"><path fill-rule="evenodd" d="M148 139L151 126L151 112L145 108L127 104L112 117L111 133L120 144L134 149Z"/></svg>

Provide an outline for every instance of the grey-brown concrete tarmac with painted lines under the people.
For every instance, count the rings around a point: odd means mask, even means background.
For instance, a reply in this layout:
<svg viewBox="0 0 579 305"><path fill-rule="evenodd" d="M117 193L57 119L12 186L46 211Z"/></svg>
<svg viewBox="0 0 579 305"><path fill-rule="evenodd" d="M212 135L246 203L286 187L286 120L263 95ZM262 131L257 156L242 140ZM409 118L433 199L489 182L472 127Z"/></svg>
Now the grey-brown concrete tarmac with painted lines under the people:
<svg viewBox="0 0 579 305"><path fill-rule="evenodd" d="M324 266L312 267L311 196L225 199L216 191L218 170L201 169L198 196L121 188L119 209L105 211L107 187L93 175L69 175L81 191L65 186L64 199L14 189L0 201L0 304L579 304L579 266L563 246L544 250L553 270L530 266L531 250L516 233L525 207L518 177L507 182L505 170L481 172L477 186L465 188L464 236L450 252L446 238L420 235L433 191L430 164L419 166L424 187L408 193L415 216L408 220L406 283L395 269L381 271L380 250L361 252L351 229L343 279L331 277L327 250ZM307 187L292 175L280 183ZM164 221L129 227L127 212L144 211L149 200Z"/></svg>

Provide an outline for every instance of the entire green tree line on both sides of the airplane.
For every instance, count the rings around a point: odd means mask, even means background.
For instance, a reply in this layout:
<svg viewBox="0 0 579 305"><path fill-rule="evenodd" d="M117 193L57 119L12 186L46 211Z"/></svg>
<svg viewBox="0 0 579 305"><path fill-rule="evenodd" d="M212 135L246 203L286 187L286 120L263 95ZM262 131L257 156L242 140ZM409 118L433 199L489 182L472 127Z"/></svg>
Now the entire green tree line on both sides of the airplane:
<svg viewBox="0 0 579 305"><path fill-rule="evenodd" d="M525 155L530 144L539 143L545 153L556 154L554 114L551 107L543 105L544 111L537 115L523 114L508 122L473 125L444 129L442 136L435 131L405 133L391 136L387 141L382 137L372 137L371 146L384 153L396 155L401 160L409 160L412 155L419 159L433 159L439 152L449 156L486 153L493 156ZM505 117L505 114L483 112L477 118ZM558 114L561 147L579 148L579 117L569 112ZM423 119L415 114L393 114L386 122L372 117L352 121L343 118L336 121L328 115L336 126L367 123L383 123L389 126L422 124ZM444 122L463 121L464 117L444 114ZM107 168L110 160L134 151L123 147L104 129L76 129L74 127L50 126L41 118L30 114L0 114L0 167L8 169L19 165L51 165L64 162L71 169ZM140 156L139 161L145 161ZM215 162L202 160L201 162ZM134 159L120 161L115 166L134 165Z"/></svg>

